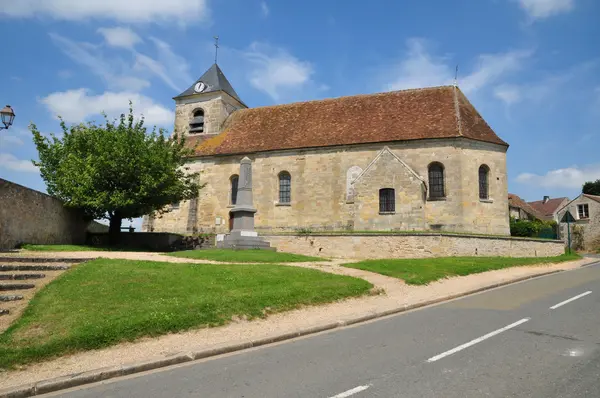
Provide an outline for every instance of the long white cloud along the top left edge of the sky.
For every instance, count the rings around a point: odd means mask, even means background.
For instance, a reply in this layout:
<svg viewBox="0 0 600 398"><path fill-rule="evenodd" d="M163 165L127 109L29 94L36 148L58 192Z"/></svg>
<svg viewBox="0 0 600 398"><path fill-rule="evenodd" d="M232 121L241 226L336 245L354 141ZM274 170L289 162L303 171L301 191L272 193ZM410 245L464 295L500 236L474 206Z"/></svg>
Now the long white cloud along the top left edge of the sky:
<svg viewBox="0 0 600 398"><path fill-rule="evenodd" d="M208 17L207 0L0 0L0 14L121 22L185 23Z"/></svg>

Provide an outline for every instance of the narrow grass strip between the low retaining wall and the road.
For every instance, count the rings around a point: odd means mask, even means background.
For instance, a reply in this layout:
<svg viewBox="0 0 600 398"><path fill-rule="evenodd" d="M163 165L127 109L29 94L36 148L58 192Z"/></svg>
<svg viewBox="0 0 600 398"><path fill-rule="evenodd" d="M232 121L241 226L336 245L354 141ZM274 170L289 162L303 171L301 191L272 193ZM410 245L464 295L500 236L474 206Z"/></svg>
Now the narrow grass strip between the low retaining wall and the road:
<svg viewBox="0 0 600 398"><path fill-rule="evenodd" d="M557 257L442 257L395 260L366 260L358 263L344 264L344 267L358 268L365 271L402 279L409 285L426 285L429 282L451 276L463 276L496 269L535 265L541 263L558 263L578 260L577 254L563 254Z"/></svg>

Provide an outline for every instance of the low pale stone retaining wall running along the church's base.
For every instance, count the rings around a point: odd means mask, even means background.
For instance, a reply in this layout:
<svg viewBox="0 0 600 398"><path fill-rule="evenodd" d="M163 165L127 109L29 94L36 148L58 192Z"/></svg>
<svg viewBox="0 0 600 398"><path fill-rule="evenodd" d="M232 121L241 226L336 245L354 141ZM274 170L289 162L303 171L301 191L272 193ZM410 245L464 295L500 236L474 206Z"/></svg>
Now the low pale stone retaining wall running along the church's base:
<svg viewBox="0 0 600 398"><path fill-rule="evenodd" d="M444 234L268 235L278 251L345 259L452 256L550 257L564 253L555 240Z"/></svg>

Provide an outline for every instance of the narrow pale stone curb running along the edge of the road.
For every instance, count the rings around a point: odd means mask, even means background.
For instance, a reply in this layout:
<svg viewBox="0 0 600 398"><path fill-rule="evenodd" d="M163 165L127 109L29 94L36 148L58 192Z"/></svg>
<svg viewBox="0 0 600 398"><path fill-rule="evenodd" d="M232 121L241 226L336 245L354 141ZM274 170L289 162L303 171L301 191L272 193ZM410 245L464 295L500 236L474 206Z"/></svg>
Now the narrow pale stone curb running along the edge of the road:
<svg viewBox="0 0 600 398"><path fill-rule="evenodd" d="M595 263L592 263L595 264ZM586 264L586 265L592 265ZM585 266L585 265L584 265ZM450 296L437 298L434 300L424 301L421 303L415 303L411 305L406 305L403 307L393 308L391 310L376 312L368 315L363 315L360 317L348 319L348 320L340 320L337 322L328 323L321 326L316 326L312 328L302 329L297 332L284 333L277 336L266 337L263 339L252 340L244 343L236 343L231 344L224 347L205 349L200 351L190 351L190 352L182 352L174 355L170 355L162 358L150 359L142 362L136 362L132 364L119 365L114 367L106 367L96 370L91 370L83 373L75 373L67 376L61 376L53 379L42 380L37 383L30 383L21 385L18 387L12 387L8 389L0 390L0 398L25 398L31 397L35 395L47 394L50 392L60 391L67 388L77 387L85 384L96 383L103 380L112 379L115 377L127 376L135 373L146 372L149 370L154 370L162 367L182 364L186 362L192 362L199 359L210 358L217 355L229 354L236 351L246 350L248 348L260 347L268 344L273 344L285 340L291 340L297 337L308 336L315 333L325 332L328 330L338 329L350 325L355 325L367 321L371 321L373 319L384 318L390 315L399 314L402 312L414 310L417 308L427 307L430 305L439 304L445 301L454 300L460 297L469 296L472 294L484 292L486 290L492 290L501 286L510 285L513 283L523 282L530 279L536 279L543 276L548 276L552 274L557 274L563 272L563 270L555 270L544 272L536 275L529 275L525 277L520 277L517 279L513 279L510 281L504 281L499 283L494 283L489 286L485 286L482 288L470 290L464 293L453 294Z"/></svg>

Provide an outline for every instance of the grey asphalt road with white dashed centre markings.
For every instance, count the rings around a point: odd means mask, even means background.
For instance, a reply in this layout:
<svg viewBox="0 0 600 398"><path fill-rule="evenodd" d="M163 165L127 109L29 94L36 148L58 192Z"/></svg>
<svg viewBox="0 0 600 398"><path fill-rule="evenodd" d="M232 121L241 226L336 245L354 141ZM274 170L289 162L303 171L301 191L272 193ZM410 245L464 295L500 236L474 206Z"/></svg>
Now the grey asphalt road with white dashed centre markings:
<svg viewBox="0 0 600 398"><path fill-rule="evenodd" d="M600 265L53 396L600 397Z"/></svg>

